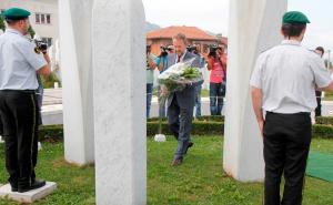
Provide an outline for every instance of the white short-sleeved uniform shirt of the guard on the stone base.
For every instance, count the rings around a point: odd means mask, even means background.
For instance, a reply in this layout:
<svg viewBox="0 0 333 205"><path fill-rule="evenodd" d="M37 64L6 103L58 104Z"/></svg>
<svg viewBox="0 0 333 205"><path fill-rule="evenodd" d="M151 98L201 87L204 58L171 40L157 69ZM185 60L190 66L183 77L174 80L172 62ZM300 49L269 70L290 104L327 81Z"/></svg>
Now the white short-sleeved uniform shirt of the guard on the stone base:
<svg viewBox="0 0 333 205"><path fill-rule="evenodd" d="M0 90L36 90L36 72L47 64L34 52L36 44L19 31L8 29L0 35Z"/></svg>

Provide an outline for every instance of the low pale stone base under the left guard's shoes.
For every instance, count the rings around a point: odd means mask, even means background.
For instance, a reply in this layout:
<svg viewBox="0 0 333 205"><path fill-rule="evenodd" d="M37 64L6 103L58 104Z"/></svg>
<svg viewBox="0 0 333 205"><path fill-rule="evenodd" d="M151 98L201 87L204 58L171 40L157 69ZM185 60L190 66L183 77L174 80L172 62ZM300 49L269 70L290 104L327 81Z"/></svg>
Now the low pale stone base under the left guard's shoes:
<svg viewBox="0 0 333 205"><path fill-rule="evenodd" d="M0 186L0 197L9 198L19 203L33 203L52 194L56 191L56 188L57 184L54 182L47 182L47 185L38 189L18 193L11 192L11 186L9 184L6 184L3 186Z"/></svg>

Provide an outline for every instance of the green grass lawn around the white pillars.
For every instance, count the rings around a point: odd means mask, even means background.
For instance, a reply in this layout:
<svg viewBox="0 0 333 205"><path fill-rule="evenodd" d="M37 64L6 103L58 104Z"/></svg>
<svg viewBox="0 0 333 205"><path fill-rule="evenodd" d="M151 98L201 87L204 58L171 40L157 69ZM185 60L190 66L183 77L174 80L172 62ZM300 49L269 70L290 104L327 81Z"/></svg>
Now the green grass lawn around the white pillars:
<svg viewBox="0 0 333 205"><path fill-rule="evenodd" d="M222 141L219 136L193 137L184 164L171 167L176 142L148 140L148 204L154 205L259 205L262 184L239 183L222 171ZM0 182L6 182L3 145L0 147ZM313 140L312 148L333 153L332 140ZM58 183L58 191L37 205L94 204L94 170L75 167L63 161L63 144L43 144L38 175ZM333 202L333 183L306 177L304 205L329 205ZM16 204L0 201L0 204Z"/></svg>

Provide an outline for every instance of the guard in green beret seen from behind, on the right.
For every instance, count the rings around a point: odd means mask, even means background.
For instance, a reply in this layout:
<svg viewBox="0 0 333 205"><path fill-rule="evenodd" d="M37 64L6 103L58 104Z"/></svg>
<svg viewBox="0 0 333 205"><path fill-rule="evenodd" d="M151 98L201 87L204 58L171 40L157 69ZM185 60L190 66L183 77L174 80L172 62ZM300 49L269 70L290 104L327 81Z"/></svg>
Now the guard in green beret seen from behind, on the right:
<svg viewBox="0 0 333 205"><path fill-rule="evenodd" d="M302 12L290 11L283 16L284 40L260 54L250 81L264 143L265 205L302 204L311 143L310 113L316 107L314 91L333 90L324 62L300 44L306 23L310 21ZM281 199L282 174L285 183Z"/></svg>

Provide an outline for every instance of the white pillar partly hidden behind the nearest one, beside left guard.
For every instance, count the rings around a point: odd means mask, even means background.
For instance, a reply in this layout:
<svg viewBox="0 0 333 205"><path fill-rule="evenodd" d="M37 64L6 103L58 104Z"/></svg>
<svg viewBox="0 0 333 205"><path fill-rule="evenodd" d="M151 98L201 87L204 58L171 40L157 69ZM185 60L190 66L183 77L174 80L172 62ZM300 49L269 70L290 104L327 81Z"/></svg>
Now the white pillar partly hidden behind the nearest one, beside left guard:
<svg viewBox="0 0 333 205"><path fill-rule="evenodd" d="M64 157L93 162L92 0L59 0Z"/></svg>

